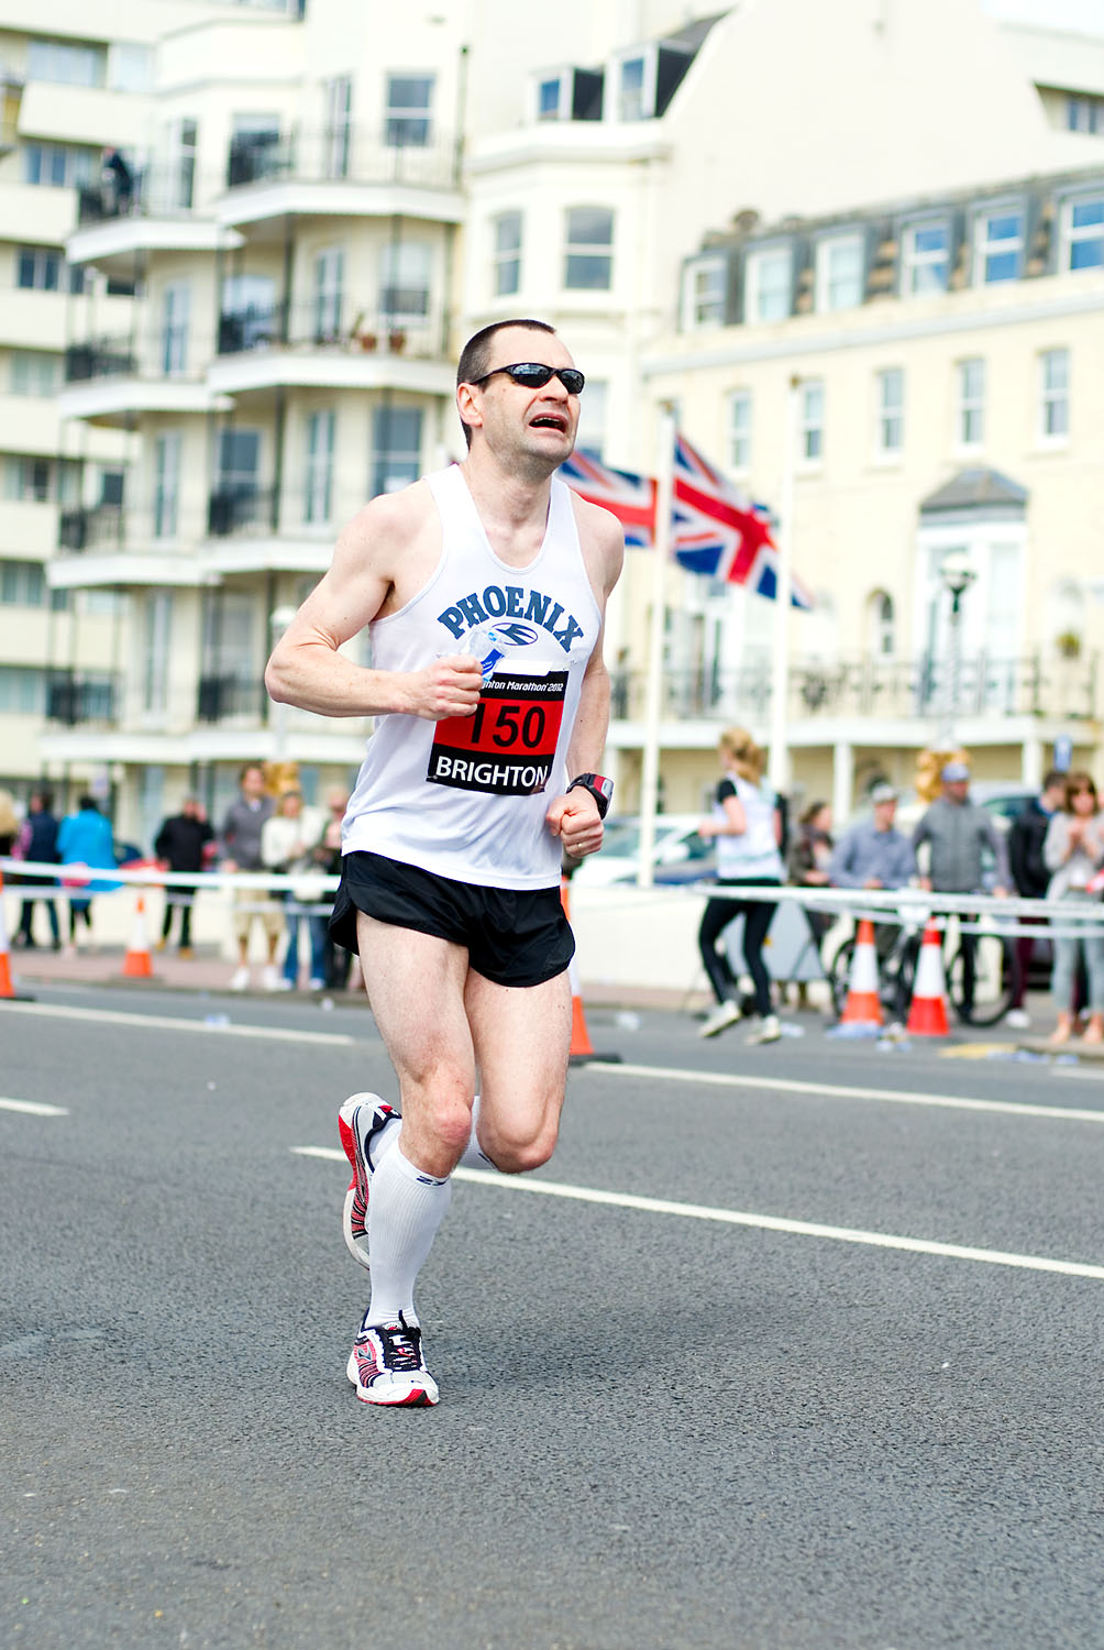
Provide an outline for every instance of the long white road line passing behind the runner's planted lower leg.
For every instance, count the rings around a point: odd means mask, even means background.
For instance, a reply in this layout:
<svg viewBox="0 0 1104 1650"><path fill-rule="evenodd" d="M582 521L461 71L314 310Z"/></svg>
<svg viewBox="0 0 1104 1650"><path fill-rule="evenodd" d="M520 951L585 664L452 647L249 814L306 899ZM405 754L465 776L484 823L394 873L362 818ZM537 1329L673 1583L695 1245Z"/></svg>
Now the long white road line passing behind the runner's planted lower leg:
<svg viewBox="0 0 1104 1650"><path fill-rule="evenodd" d="M347 1163L335 1147L297 1145L295 1157L322 1157ZM1015 1266L1028 1272L1061 1272L1066 1277L1104 1279L1104 1266L1081 1261L1051 1261L1046 1256L1007 1254L1003 1249L969 1249L964 1244L931 1242L927 1238L896 1238L889 1233L865 1233L852 1226L820 1226L815 1221L790 1221L776 1214L743 1214L738 1209L713 1209L701 1203L670 1203L665 1198L637 1198L627 1191L596 1191L592 1186L566 1186L556 1180L531 1180L521 1175L492 1175L482 1168L457 1168L454 1180L470 1180L500 1191L535 1191L546 1198L571 1198L576 1203L602 1203L617 1209L640 1209L645 1214L680 1214L691 1221L719 1221L724 1226L751 1226L766 1233L790 1233L795 1238L827 1238L832 1242L866 1244L873 1249L904 1249L909 1254L936 1254L949 1261L980 1261L987 1266Z"/></svg>

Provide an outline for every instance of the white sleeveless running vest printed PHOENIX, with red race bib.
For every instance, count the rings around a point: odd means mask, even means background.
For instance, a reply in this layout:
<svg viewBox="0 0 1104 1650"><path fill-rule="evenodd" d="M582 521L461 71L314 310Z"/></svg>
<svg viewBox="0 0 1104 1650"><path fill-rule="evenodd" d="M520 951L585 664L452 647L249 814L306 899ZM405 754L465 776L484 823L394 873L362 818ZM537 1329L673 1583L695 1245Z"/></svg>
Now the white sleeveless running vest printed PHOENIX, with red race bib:
<svg viewBox="0 0 1104 1650"><path fill-rule="evenodd" d="M556 888L561 846L545 825L568 784L566 752L601 612L568 487L553 477L545 540L528 568L493 553L462 472L426 477L444 546L429 582L370 625L376 670L424 670L474 653L474 716L376 719L342 825L342 851L381 853L484 888Z"/></svg>

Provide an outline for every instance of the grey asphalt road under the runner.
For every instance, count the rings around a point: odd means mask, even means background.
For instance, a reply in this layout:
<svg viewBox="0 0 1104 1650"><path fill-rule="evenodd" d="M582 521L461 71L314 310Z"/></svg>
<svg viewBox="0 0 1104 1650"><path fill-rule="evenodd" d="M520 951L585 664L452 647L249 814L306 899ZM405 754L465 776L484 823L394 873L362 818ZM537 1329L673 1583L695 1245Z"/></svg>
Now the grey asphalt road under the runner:
<svg viewBox="0 0 1104 1650"><path fill-rule="evenodd" d="M368 1013L0 1005L64 1112L0 1106L5 1643L1101 1650L1104 1068L587 1018L622 1068L559 1190L457 1183L388 1414L304 1155L393 1092Z"/></svg>

